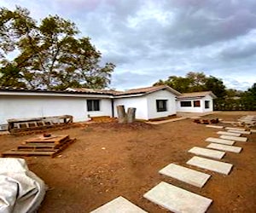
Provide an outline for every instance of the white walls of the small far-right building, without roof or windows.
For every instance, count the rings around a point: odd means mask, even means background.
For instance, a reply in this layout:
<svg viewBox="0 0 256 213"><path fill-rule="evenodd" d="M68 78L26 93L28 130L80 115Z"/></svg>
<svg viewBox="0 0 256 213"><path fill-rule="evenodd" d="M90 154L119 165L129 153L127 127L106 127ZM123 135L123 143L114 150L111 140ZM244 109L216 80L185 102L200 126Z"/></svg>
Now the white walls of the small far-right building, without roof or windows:
<svg viewBox="0 0 256 213"><path fill-rule="evenodd" d="M180 107L181 101L191 101L191 107ZM200 101L200 107L194 107L193 101ZM209 101L209 108L205 108L205 101ZM211 95L206 95L201 99L183 99L176 102L177 112L212 112L213 111L213 99Z"/></svg>

